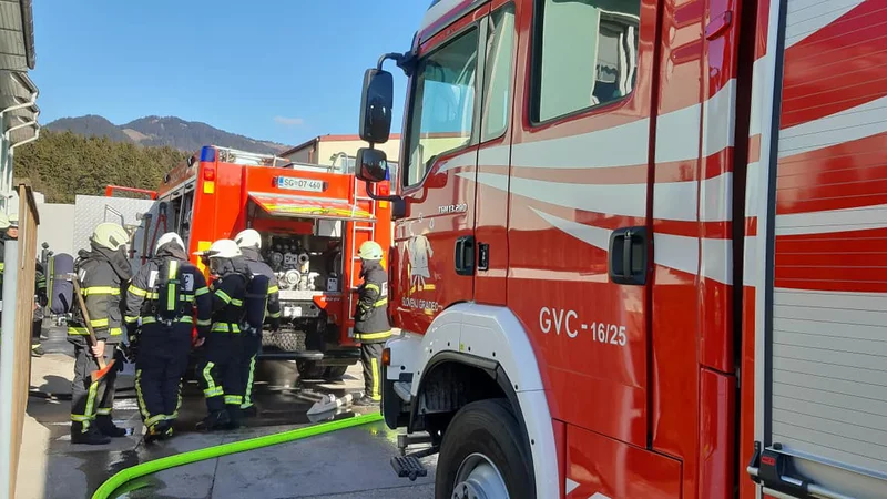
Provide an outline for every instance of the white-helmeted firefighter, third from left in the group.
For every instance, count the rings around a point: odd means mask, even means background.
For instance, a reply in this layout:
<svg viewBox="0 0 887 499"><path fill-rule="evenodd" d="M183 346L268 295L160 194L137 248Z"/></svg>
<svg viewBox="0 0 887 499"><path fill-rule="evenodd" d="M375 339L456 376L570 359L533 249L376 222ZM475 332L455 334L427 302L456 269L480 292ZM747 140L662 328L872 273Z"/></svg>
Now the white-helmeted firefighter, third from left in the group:
<svg viewBox="0 0 887 499"><path fill-rule="evenodd" d="M208 332L198 332L195 344L205 349L198 369L208 411L197 428L235 429L239 426L243 404L239 333L248 278L235 268L243 264L243 254L232 240L218 240L205 253L198 254L208 258L210 272L215 279L210 286L212 326Z"/></svg>

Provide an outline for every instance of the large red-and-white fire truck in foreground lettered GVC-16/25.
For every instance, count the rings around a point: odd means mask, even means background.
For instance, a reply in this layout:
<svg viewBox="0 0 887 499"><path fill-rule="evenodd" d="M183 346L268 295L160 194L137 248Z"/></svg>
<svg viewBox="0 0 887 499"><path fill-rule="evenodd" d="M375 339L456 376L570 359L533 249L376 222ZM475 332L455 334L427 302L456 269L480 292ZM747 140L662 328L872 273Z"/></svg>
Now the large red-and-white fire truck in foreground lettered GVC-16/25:
<svg viewBox="0 0 887 499"><path fill-rule="evenodd" d="M887 2L435 0L381 411L437 497L887 497ZM385 181L385 154L358 153ZM425 435L427 434L427 435Z"/></svg>

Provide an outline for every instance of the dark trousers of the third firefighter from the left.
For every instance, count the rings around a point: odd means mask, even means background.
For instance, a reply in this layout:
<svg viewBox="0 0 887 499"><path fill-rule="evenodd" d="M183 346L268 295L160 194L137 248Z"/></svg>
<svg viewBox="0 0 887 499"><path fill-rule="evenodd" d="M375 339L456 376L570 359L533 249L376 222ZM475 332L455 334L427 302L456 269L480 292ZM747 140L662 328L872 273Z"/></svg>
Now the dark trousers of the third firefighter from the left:
<svg viewBox="0 0 887 499"><path fill-rule="evenodd" d="M206 397L206 409L211 415L227 410L231 421L236 424L243 404L241 334L210 333L204 347L206 356L200 365L198 377Z"/></svg>

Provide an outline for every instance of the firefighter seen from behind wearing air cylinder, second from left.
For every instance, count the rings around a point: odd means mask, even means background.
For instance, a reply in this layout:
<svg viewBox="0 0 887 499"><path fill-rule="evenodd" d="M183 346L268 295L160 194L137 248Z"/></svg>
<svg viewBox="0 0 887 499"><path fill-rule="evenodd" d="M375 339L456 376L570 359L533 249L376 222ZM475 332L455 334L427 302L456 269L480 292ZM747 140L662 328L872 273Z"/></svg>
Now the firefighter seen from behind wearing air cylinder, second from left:
<svg viewBox="0 0 887 499"><path fill-rule="evenodd" d="M203 274L187 262L179 234L163 234L154 257L126 291L126 334L135 352L135 391L145 442L173 436L182 405L192 328L210 328L212 298ZM141 318L141 328L139 319Z"/></svg>

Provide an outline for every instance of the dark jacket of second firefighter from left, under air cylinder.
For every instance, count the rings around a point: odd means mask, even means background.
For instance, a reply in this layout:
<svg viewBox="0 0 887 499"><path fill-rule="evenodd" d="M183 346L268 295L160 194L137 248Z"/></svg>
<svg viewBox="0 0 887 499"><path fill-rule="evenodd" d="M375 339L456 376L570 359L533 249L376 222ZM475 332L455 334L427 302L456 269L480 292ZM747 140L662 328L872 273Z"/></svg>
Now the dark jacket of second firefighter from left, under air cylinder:
<svg viewBox="0 0 887 499"><path fill-rule="evenodd" d="M206 279L196 266L187 262L184 249L175 243L169 243L157 248L154 258L145 263L132 278L126 293L126 314L124 316L128 328L132 329L140 317L142 325L157 322L157 312L165 304L157 303L160 293L155 287L161 282L170 281L170 276L160 275L165 261L175 262L175 268L173 265L167 265L166 268L170 269L169 272L175 272L172 277L180 282L179 322L191 323L196 319L194 324L198 330L208 330L212 297L210 288L206 286Z"/></svg>

